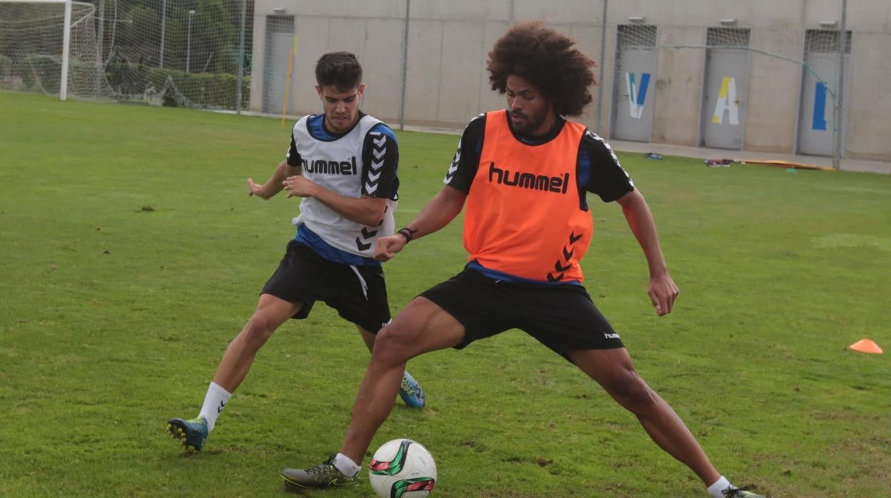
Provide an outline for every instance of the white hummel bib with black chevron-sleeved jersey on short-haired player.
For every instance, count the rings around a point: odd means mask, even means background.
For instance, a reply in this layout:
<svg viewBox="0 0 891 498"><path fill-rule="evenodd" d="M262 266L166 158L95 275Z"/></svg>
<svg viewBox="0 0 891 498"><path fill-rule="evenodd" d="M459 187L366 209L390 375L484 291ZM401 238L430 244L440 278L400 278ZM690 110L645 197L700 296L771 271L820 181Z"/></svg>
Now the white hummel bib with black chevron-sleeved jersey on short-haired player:
<svg viewBox="0 0 891 498"><path fill-rule="evenodd" d="M396 136L387 125L366 114L359 116L356 125L342 135L332 135L324 128L323 114L301 118L291 134L287 162L300 167L308 180L340 195L388 199L384 217L377 225L356 223L311 197L300 201L300 221L312 233L333 249L369 258L374 241L392 234L395 228L399 152ZM301 240L299 232L297 238ZM348 255L335 256L353 260Z"/></svg>

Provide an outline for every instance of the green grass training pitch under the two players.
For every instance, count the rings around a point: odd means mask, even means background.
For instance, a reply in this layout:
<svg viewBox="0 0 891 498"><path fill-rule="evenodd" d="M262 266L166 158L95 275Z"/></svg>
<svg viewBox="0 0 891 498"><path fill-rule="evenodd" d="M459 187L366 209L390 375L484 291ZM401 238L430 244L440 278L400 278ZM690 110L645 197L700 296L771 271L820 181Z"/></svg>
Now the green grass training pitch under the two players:
<svg viewBox="0 0 891 498"><path fill-rule="evenodd" d="M292 237L297 200L249 198L277 119L0 93L0 495L281 496L278 472L339 448L367 353L325 306L257 356L206 450L192 417ZM441 186L457 137L399 133L397 225ZM586 286L644 379L738 485L891 496L891 176L622 155L674 281L659 318L620 209L590 199ZM386 265L397 312L457 273L461 224ZM428 407L395 437L437 459L437 496L703 496L574 367L519 331L410 369ZM366 461L367 462L367 461ZM308 496L369 496L371 486Z"/></svg>

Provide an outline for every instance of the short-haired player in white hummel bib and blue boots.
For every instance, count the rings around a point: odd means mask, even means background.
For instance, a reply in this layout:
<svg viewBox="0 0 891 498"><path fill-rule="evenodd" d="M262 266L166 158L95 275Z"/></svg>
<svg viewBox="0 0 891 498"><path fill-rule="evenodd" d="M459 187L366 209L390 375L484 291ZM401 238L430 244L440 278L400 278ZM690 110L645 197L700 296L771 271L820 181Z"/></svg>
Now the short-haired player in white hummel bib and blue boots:
<svg viewBox="0 0 891 498"><path fill-rule="evenodd" d="M254 314L226 348L198 417L168 421L168 432L188 450L204 445L260 347L289 318L306 318L315 301L355 323L369 350L390 321L384 274L373 251L374 242L394 230L396 136L359 110L365 84L354 54L325 53L315 78L323 114L298 120L285 159L265 184L248 179L248 195L268 200L287 190L288 197L302 199L294 218L297 235ZM401 379L405 404L422 407L421 386L407 371Z"/></svg>

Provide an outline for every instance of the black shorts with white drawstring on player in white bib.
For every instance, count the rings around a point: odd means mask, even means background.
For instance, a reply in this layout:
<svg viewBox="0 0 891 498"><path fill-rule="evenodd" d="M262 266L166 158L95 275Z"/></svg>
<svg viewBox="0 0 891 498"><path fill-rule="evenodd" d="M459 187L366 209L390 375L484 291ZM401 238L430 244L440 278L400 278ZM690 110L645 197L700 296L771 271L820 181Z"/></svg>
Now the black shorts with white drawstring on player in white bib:
<svg viewBox="0 0 891 498"><path fill-rule="evenodd" d="M261 294L272 294L303 307L293 318L309 315L323 301L348 322L377 333L390 321L387 285L380 266L353 266L319 256L298 241L290 241L278 269Z"/></svg>

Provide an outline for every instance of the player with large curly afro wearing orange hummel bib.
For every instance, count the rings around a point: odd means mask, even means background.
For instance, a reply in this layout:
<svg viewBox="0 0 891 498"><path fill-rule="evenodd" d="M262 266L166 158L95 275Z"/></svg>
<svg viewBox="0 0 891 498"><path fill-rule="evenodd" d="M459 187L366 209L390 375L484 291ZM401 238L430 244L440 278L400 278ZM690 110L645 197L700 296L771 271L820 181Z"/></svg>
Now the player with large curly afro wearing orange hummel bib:
<svg viewBox="0 0 891 498"><path fill-rule="evenodd" d="M581 114L592 101L594 63L574 45L540 22L513 26L495 43L489 79L507 95L507 109L470 121L446 186L375 249L375 257L386 261L463 209L468 263L380 331L340 453L312 469L284 469L287 484L325 487L356 478L409 359L516 328L600 383L657 445L702 479L709 494L757 496L715 470L680 417L635 371L619 335L582 286L579 262L593 236L585 194L593 192L621 206L650 267L648 293L656 313L670 313L678 296L641 192L607 143L563 118Z"/></svg>

